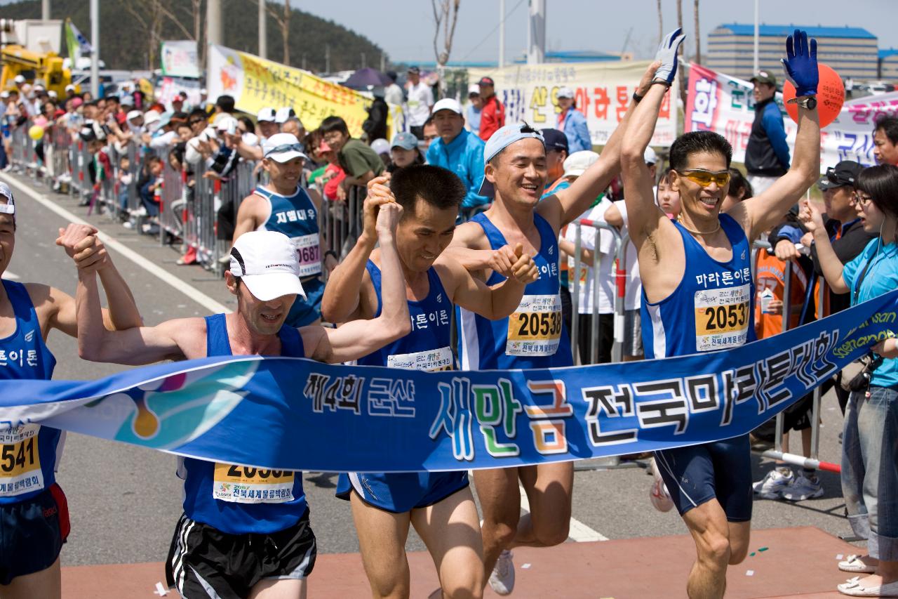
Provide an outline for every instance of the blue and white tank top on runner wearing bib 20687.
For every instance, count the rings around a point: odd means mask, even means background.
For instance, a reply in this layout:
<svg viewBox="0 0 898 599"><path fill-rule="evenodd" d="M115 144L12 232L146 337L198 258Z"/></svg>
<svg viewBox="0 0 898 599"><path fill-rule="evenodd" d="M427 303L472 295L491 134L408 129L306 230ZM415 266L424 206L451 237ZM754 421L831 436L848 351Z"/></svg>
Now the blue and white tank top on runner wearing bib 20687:
<svg viewBox="0 0 898 599"><path fill-rule="evenodd" d="M257 187L253 192L269 201L269 219L260 231L277 231L290 237L299 256L299 276L321 274L321 237L318 231L318 210L302 187L290 197Z"/></svg>

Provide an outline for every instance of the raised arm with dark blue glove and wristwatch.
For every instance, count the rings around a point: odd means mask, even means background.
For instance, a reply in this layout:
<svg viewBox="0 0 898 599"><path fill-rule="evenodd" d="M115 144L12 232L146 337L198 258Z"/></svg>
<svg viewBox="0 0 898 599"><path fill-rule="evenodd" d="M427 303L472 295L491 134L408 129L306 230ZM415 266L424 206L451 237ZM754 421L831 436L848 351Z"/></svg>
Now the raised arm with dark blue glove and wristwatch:
<svg viewBox="0 0 898 599"><path fill-rule="evenodd" d="M796 30L786 39L786 55L783 67L789 81L796 86L797 98L814 96L818 80L817 41L808 40L805 31ZM798 103L795 156L788 173L758 196L740 201L728 213L743 224L749 239L755 239L776 225L782 215L802 199L819 175L820 119L815 108L810 110Z"/></svg>

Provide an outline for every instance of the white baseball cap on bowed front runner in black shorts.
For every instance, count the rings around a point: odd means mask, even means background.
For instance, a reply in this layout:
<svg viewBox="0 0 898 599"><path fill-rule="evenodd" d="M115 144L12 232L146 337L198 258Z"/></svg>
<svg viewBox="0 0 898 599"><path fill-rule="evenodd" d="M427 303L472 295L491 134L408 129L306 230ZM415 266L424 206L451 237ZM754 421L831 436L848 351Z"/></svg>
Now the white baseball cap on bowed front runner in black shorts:
<svg viewBox="0 0 898 599"><path fill-rule="evenodd" d="M305 299L296 246L283 233L248 231L237 237L231 248L231 274L261 301L293 294Z"/></svg>

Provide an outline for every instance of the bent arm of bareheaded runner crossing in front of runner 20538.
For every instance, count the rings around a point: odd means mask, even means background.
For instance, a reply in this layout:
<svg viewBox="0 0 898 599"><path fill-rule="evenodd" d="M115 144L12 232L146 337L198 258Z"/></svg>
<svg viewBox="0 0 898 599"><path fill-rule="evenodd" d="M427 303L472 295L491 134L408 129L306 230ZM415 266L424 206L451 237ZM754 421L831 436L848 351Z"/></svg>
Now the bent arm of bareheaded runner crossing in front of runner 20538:
<svg viewBox="0 0 898 599"><path fill-rule="evenodd" d="M485 282L471 276L462 264L440 256L434 266L440 278L447 282L446 292L453 303L462 308L497 320L510 316L521 303L524 288L539 278L539 270L533 257L524 254L524 246L518 244L514 250L515 263L511 265L512 276L505 281L488 287Z"/></svg>

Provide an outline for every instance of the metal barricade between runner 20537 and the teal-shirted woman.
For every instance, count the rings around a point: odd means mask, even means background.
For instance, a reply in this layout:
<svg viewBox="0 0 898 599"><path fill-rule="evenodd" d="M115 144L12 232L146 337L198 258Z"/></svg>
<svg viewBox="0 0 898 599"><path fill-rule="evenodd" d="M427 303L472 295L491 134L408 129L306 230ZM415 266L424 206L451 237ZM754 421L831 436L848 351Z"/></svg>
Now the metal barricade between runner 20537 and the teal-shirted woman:
<svg viewBox="0 0 898 599"><path fill-rule="evenodd" d="M754 249L758 250L758 252L772 252L773 247L767 241L757 240L754 242ZM752 264L752 272L754 273L755 283L757 282L757 261L755 256L757 253L753 253L753 264ZM791 297L791 285L792 285L792 261L787 260L786 266L783 270L783 308L782 308L782 332L785 333L789 328L789 320L791 320L791 312L792 312L792 297ZM817 318L823 318L823 300L825 298L825 294L827 292L826 282L823 279L820 279L820 289L816 298L816 308L817 308ZM810 297L810 296L808 296ZM774 447L772 450L762 451L761 455L765 458L772 458L774 460L781 460L788 464L793 464L796 466L800 466L802 468L808 469L820 469L820 470L828 470L830 472L841 472L841 467L839 464L834 464L827 461L819 460L820 457L820 401L823 394L821 392L821 386L817 386L814 389L814 395L811 402L811 455L803 456L797 455L795 453L789 453L788 451L783 451L782 446L782 438L783 438L783 427L784 427L784 415L782 412L776 416L776 431L774 433Z"/></svg>

